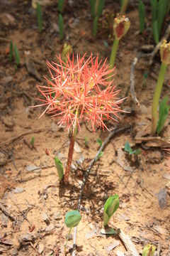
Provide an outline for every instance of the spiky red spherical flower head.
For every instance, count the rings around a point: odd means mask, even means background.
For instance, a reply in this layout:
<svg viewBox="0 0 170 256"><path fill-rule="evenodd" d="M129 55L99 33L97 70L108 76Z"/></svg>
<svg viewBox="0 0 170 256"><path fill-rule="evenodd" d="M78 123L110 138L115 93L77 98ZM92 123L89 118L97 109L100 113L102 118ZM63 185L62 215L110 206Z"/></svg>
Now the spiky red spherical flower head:
<svg viewBox="0 0 170 256"><path fill-rule="evenodd" d="M42 99L38 99L45 106L45 111L52 117L59 119L58 124L66 124L67 128L78 127L80 121L91 122L92 129L95 126L108 129L105 120L118 117L120 103L123 101L118 98L118 90L113 84L113 69L109 65L93 57L85 59L77 55L74 60L67 57L63 62L62 58L57 57L58 63L47 65L50 72L50 79L47 85L38 85L38 90L42 94ZM111 77L112 79L108 79ZM42 117L42 114L40 117ZM116 121L116 120L115 120Z"/></svg>

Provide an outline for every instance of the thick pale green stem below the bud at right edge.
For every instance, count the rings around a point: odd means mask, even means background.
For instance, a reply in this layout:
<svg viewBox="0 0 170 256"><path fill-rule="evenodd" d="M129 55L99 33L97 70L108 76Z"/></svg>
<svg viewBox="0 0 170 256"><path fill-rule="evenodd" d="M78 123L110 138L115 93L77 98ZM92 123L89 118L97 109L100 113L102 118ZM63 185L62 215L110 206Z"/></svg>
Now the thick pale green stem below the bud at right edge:
<svg viewBox="0 0 170 256"><path fill-rule="evenodd" d="M154 91L154 97L152 102L152 134L155 134L157 131L159 98L162 92L162 85L164 83L166 68L167 68L167 65L165 63L162 63L161 68L159 70L157 86Z"/></svg>

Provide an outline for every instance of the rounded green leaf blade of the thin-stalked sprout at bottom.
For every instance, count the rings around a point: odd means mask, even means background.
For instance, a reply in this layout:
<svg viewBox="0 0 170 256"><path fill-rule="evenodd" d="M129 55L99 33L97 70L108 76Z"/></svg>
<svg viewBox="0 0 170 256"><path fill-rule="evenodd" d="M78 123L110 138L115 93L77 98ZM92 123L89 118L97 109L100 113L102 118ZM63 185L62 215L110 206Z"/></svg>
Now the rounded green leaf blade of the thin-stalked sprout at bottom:
<svg viewBox="0 0 170 256"><path fill-rule="evenodd" d="M79 213L79 210L70 210L65 215L65 224L67 225L67 228L73 228L79 225L79 222L81 220L81 214Z"/></svg>

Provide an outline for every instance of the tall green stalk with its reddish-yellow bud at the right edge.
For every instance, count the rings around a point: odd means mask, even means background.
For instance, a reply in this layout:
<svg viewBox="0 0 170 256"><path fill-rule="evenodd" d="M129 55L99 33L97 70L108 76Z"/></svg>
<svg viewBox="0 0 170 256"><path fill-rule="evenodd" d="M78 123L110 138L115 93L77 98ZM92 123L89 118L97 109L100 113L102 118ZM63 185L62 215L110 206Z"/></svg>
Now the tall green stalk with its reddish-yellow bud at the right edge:
<svg viewBox="0 0 170 256"><path fill-rule="evenodd" d="M162 42L162 45L160 47L160 54L161 54L162 65L159 70L159 77L157 80L157 86L154 91L154 97L152 102L152 134L155 134L157 132L159 98L162 92L162 85L164 83L164 77L166 75L167 65L170 64L170 43L167 43L166 40ZM166 101L163 102L163 105L166 105ZM165 117L165 115L167 116L167 107L164 107L164 110L165 110L164 112L164 117ZM162 114L162 112L159 111L159 114ZM160 115L159 117L161 118Z"/></svg>

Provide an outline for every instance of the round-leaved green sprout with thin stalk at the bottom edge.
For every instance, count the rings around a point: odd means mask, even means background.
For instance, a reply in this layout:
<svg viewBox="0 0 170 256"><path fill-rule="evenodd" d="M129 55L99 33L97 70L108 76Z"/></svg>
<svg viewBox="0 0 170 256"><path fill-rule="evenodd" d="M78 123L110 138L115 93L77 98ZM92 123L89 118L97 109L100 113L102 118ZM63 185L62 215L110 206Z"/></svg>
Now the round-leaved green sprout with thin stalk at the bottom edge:
<svg viewBox="0 0 170 256"><path fill-rule="evenodd" d="M67 235L67 240L64 245L64 256L66 255L67 242L69 240L69 235L72 231L72 228L79 225L80 220L81 214L79 213L79 210L69 210L65 215L65 225L67 225L67 228L69 228L69 233Z"/></svg>

